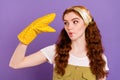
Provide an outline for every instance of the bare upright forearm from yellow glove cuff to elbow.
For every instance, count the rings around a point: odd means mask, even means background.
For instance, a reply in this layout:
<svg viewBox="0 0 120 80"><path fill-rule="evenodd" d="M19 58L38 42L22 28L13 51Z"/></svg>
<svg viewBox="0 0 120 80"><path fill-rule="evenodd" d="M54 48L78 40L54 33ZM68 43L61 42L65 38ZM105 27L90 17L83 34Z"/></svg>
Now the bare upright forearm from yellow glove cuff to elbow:
<svg viewBox="0 0 120 80"><path fill-rule="evenodd" d="M27 49L27 45L24 45L22 43L19 43L18 46L16 47L9 66L12 68L17 68L19 66L19 64L23 61L24 57L25 57L25 53L26 53L26 49Z"/></svg>

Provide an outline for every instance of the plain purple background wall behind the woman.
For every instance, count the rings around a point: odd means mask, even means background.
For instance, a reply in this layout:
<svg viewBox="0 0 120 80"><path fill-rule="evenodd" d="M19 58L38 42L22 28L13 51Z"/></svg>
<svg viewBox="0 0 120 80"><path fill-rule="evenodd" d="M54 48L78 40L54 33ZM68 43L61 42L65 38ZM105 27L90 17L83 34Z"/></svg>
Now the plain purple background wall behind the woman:
<svg viewBox="0 0 120 80"><path fill-rule="evenodd" d="M56 33L42 33L30 44L27 55L55 43L63 27L61 15L72 5L86 6L94 16L102 34L110 73L107 80L118 80L120 72L119 0L0 0L0 80L52 80L52 65L14 70L8 64L19 43L18 33L34 19L55 12L51 26Z"/></svg>

